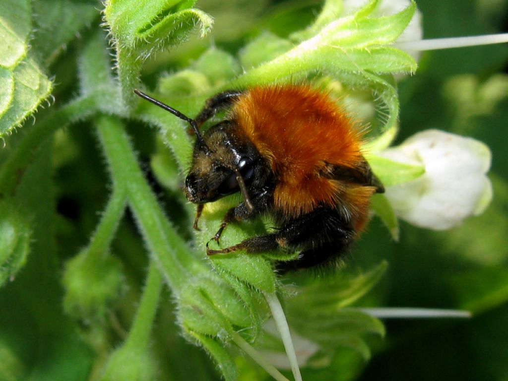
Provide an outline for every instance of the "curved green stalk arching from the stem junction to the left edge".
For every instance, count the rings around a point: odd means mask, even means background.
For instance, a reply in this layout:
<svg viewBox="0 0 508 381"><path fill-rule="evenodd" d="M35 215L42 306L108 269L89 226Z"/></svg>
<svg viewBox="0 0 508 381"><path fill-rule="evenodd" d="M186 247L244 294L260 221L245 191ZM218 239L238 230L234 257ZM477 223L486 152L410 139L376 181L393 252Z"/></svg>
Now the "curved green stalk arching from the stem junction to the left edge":
<svg viewBox="0 0 508 381"><path fill-rule="evenodd" d="M0 168L0 195L15 193L20 177L42 142L58 129L93 114L95 106L93 97L78 98L29 129Z"/></svg>

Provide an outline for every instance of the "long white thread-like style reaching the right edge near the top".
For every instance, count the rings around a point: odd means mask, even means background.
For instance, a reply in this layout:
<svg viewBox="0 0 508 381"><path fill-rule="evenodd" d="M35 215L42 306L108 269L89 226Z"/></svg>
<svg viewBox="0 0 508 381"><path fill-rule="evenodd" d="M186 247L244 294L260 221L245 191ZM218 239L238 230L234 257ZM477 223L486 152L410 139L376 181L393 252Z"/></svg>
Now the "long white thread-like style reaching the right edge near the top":
<svg viewBox="0 0 508 381"><path fill-rule="evenodd" d="M451 37L432 40L400 41L393 44L396 48L408 50L437 50L462 48L465 46L502 44L508 42L508 33L499 35L469 36L469 37Z"/></svg>

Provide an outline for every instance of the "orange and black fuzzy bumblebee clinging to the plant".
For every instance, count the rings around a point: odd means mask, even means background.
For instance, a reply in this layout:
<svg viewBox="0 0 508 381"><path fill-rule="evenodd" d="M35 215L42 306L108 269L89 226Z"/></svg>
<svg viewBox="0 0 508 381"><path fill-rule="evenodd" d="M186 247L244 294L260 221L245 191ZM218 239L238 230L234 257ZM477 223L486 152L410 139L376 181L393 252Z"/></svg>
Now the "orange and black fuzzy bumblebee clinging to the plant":
<svg viewBox="0 0 508 381"><path fill-rule="evenodd" d="M334 263L363 230L373 194L383 193L361 152L363 133L328 94L308 85L256 86L210 98L195 119L135 90L140 97L186 120L196 134L188 201L198 204L194 227L206 203L241 192L212 238L228 224L261 213L276 228L207 254L285 248L295 260L278 262L280 272ZM223 121L201 134L218 111Z"/></svg>

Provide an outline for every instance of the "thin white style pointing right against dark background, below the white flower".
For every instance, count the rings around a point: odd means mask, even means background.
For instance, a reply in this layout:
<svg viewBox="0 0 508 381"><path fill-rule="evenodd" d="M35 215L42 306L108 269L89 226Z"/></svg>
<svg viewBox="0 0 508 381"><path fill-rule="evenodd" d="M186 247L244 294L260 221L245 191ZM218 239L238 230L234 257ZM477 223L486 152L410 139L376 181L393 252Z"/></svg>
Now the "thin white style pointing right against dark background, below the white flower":
<svg viewBox="0 0 508 381"><path fill-rule="evenodd" d="M471 312L457 309L433 309L433 308L359 308L371 316L379 319L429 319L440 317L467 318Z"/></svg>

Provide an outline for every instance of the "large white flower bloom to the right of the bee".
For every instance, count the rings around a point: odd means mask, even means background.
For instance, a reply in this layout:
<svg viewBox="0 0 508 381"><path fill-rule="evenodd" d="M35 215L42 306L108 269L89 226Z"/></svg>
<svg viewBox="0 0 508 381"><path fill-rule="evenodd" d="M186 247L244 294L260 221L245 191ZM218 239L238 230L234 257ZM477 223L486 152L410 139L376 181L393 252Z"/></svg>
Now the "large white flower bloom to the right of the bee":
<svg viewBox="0 0 508 381"><path fill-rule="evenodd" d="M395 213L412 225L450 229L482 213L492 199L486 176L491 153L472 138L427 130L380 155L425 167L425 174L416 180L386 189Z"/></svg>

